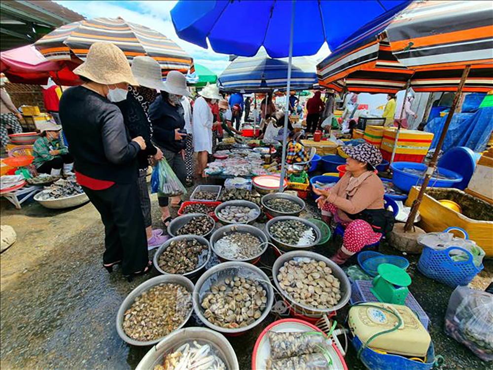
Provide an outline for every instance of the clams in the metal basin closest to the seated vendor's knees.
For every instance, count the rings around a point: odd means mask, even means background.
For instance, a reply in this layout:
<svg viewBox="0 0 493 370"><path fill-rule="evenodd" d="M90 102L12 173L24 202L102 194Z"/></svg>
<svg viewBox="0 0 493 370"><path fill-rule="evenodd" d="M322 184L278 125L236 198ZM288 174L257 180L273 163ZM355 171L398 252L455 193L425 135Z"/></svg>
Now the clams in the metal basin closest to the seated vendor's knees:
<svg viewBox="0 0 493 370"><path fill-rule="evenodd" d="M269 227L269 233L282 243L303 247L313 244L317 239L315 229L298 220L282 220Z"/></svg>

